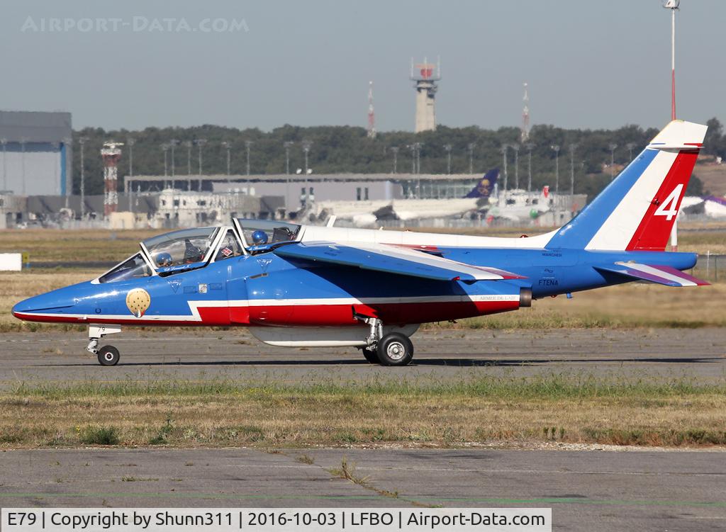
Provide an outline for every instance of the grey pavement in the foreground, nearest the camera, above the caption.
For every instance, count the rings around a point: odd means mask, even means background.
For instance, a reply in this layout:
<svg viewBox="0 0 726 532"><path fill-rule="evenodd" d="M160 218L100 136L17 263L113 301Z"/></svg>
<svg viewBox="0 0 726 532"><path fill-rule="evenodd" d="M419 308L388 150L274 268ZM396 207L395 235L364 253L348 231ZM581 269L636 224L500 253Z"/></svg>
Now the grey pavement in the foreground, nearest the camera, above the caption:
<svg viewBox="0 0 726 532"><path fill-rule="evenodd" d="M344 457L363 485L330 472ZM493 449L6 451L0 505L551 507L555 530L722 530L724 457Z"/></svg>

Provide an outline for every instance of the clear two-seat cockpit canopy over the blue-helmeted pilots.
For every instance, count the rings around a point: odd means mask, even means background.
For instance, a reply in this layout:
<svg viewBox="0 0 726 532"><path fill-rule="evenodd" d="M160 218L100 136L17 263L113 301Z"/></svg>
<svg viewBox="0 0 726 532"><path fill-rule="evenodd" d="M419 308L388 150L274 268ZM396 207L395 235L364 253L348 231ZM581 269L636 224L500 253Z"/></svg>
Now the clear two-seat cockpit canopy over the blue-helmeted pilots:
<svg viewBox="0 0 726 532"><path fill-rule="evenodd" d="M297 241L301 236L300 229L299 225L283 221L245 218L234 218L234 227L179 229L144 240L140 253L103 274L97 282L166 276L228 258L264 253L286 242Z"/></svg>

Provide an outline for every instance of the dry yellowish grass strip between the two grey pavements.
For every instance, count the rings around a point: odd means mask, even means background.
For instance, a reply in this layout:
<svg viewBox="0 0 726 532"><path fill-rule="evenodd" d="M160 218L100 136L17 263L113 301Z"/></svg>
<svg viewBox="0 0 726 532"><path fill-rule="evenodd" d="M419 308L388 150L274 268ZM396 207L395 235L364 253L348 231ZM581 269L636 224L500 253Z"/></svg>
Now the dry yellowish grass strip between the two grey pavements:
<svg viewBox="0 0 726 532"><path fill-rule="evenodd" d="M726 445L726 384L551 375L350 386L88 383L0 396L3 447L78 446L98 427L113 427L123 446Z"/></svg>

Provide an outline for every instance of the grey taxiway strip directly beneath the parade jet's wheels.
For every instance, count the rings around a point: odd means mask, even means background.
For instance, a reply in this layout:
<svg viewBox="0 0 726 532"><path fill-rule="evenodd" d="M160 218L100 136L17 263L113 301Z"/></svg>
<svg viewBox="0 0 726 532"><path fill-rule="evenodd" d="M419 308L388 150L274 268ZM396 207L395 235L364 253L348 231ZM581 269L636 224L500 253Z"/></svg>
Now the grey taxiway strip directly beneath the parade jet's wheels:
<svg viewBox="0 0 726 532"><path fill-rule="evenodd" d="M423 378L439 382L481 375L552 372L633 377L726 378L726 329L428 330L413 338L414 364L388 368L354 348L274 348L243 329L129 330L107 337L121 362L101 367L82 332L0 336L0 389L19 382L84 380L264 379L340 382Z"/></svg>

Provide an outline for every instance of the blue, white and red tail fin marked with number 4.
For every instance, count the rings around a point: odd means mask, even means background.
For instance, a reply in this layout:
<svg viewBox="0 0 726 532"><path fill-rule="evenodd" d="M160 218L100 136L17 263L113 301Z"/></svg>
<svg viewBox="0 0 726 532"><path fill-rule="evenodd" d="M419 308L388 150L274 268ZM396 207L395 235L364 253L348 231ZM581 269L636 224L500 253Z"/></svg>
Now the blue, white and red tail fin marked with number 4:
<svg viewBox="0 0 726 532"><path fill-rule="evenodd" d="M547 247L665 250L704 136L673 120Z"/></svg>

